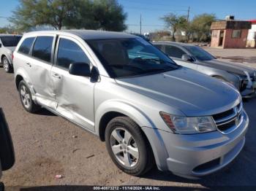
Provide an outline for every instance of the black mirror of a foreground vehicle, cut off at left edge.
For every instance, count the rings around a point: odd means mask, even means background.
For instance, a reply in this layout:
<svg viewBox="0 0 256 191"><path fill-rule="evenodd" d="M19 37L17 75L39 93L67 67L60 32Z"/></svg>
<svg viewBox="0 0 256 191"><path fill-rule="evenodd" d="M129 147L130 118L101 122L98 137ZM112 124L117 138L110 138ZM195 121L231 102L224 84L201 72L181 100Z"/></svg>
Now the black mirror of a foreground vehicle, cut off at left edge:
<svg viewBox="0 0 256 191"><path fill-rule="evenodd" d="M0 174L1 170L7 171L15 163L15 153L12 145L12 137L4 117L4 112L0 108Z"/></svg>

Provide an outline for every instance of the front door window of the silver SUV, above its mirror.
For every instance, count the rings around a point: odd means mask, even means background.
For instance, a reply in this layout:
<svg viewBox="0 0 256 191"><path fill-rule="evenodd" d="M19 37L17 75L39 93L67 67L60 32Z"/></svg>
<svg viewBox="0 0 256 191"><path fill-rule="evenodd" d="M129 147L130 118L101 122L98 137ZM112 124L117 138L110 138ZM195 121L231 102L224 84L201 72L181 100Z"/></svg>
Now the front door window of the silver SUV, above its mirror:
<svg viewBox="0 0 256 191"><path fill-rule="evenodd" d="M89 58L78 44L68 39L60 39L57 57L57 65L65 69L69 69L70 63L89 63Z"/></svg>

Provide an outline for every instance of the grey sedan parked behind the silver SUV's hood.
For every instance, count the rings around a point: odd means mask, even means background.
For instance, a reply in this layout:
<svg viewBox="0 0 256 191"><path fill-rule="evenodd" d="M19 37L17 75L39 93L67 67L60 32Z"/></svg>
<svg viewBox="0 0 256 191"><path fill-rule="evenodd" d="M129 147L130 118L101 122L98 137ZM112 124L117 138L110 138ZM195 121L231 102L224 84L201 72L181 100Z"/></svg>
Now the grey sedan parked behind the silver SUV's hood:
<svg viewBox="0 0 256 191"><path fill-rule="evenodd" d="M256 70L238 63L220 61L203 48L178 42L154 42L181 66L233 84L244 98L255 96Z"/></svg>

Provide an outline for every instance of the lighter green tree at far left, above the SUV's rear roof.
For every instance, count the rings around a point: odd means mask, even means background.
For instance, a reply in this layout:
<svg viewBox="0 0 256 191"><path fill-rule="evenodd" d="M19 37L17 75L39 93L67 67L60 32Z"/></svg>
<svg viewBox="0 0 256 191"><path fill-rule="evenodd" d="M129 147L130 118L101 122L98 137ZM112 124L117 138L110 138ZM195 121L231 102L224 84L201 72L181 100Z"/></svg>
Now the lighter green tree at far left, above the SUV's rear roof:
<svg viewBox="0 0 256 191"><path fill-rule="evenodd" d="M65 20L75 12L78 0L20 0L10 22L21 30L50 25L61 29Z"/></svg>

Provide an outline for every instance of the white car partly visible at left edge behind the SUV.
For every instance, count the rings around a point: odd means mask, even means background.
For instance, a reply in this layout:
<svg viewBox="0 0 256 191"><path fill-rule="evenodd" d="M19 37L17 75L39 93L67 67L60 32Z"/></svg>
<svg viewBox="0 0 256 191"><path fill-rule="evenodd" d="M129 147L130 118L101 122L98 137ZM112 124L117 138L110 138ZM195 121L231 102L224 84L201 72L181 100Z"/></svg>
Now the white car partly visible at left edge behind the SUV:
<svg viewBox="0 0 256 191"><path fill-rule="evenodd" d="M15 50L22 36L13 34L0 34L1 66L8 73L12 72L12 52Z"/></svg>

